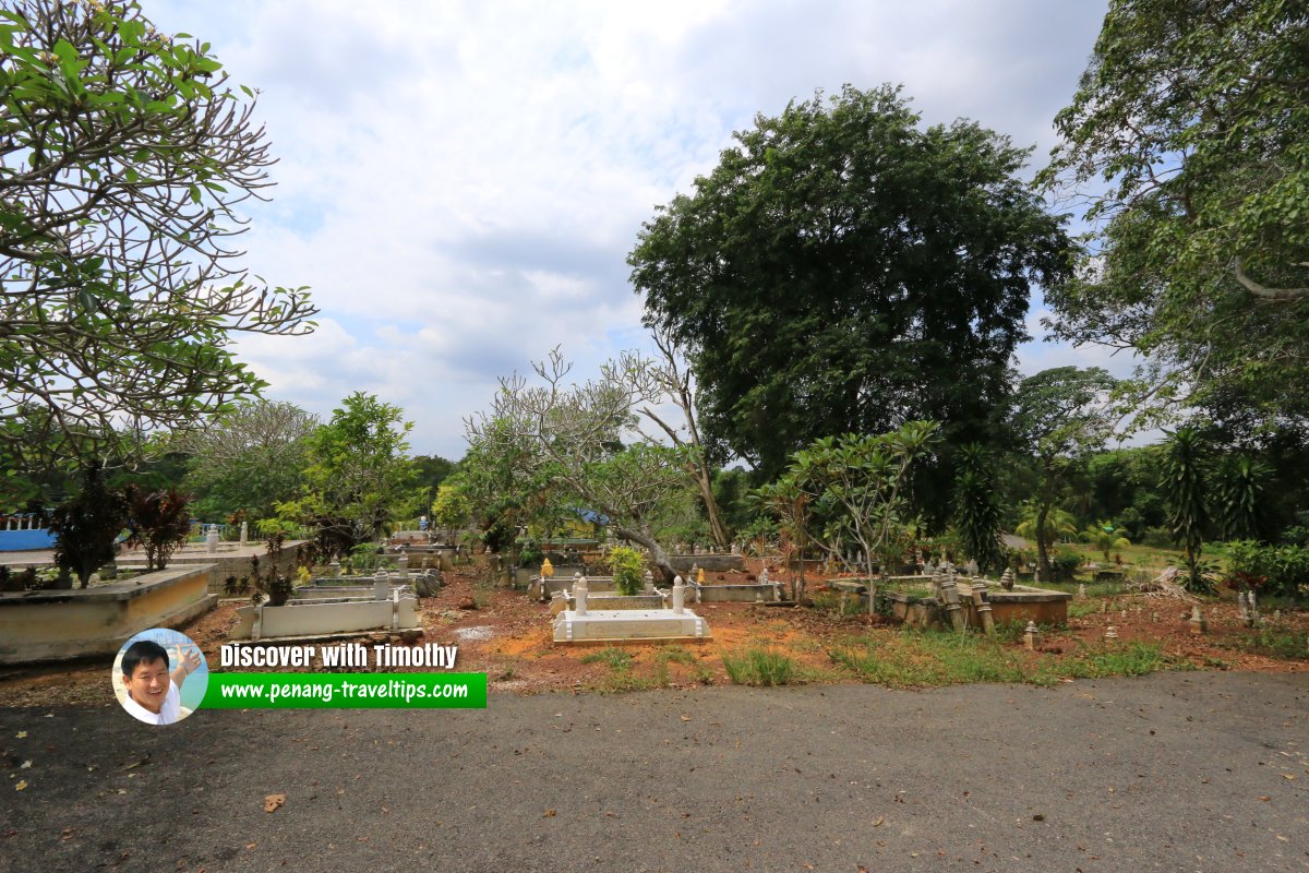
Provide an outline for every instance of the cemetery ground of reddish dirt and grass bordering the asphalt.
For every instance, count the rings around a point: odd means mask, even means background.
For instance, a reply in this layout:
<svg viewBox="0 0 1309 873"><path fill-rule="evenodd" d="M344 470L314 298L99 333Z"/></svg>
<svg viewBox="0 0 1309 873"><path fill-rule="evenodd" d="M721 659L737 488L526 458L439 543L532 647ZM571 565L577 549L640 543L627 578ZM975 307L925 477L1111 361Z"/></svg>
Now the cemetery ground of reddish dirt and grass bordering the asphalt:
<svg viewBox="0 0 1309 873"><path fill-rule="evenodd" d="M761 568L759 560L747 561L747 572ZM1050 686L1156 670L1309 671L1309 611L1304 610L1275 613L1267 605L1263 627L1247 628L1233 598L1208 601L1202 603L1207 632L1195 635L1186 620L1191 607L1182 601L1127 594L1113 584L1088 585L1088 597L1069 603L1068 626L1042 628L1035 650L1026 650L1021 626L1001 626L994 637L975 631L961 637L906 631L863 614L853 602L842 610L839 596L825 590L826 579L810 576L812 607L694 605L712 631L713 639L704 643L567 647L552 641L547 606L493 585L483 568L470 565L446 572L440 594L421 598L421 641L458 645L456 669L484 671L492 696L733 683ZM711 573L708 581L741 582L746 573ZM211 669L221 669L219 647L228 641L241 602L224 601L182 628L200 645ZM1109 626L1118 633L1115 643L1105 640ZM402 643L381 632L373 639ZM0 705L58 704L117 705L103 664L0 670Z"/></svg>

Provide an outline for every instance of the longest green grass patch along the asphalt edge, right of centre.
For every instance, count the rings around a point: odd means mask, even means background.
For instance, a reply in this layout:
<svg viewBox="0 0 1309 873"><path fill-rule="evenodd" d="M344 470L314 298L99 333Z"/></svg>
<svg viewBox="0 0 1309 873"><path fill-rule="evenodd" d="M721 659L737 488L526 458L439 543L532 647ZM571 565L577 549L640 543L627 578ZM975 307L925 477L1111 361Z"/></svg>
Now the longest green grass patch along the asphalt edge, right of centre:
<svg viewBox="0 0 1309 873"><path fill-rule="evenodd" d="M873 635L829 652L833 662L864 682L935 687L975 682L1054 685L1062 678L1144 675L1173 666L1155 643L1083 647L1064 657L1031 656L997 636L906 630Z"/></svg>

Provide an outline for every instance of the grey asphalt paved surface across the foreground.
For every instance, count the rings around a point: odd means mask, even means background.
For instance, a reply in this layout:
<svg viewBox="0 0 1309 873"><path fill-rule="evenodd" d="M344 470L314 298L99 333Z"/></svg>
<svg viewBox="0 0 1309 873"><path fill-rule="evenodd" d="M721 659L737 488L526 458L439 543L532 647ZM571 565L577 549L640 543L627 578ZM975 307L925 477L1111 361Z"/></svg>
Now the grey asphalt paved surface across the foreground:
<svg viewBox="0 0 1309 873"><path fill-rule="evenodd" d="M1309 674L202 709L162 729L9 709L0 749L5 873L1309 870Z"/></svg>

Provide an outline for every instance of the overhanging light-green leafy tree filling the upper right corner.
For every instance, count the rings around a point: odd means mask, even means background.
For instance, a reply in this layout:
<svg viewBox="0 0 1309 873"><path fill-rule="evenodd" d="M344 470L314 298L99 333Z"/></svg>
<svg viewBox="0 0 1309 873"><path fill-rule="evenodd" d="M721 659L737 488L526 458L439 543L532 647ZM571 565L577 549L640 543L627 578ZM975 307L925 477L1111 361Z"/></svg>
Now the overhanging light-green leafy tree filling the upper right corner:
<svg viewBox="0 0 1309 873"><path fill-rule="evenodd" d="M1114 0L1043 178L1094 245L1058 335L1148 355L1155 410L1309 419L1309 7Z"/></svg>

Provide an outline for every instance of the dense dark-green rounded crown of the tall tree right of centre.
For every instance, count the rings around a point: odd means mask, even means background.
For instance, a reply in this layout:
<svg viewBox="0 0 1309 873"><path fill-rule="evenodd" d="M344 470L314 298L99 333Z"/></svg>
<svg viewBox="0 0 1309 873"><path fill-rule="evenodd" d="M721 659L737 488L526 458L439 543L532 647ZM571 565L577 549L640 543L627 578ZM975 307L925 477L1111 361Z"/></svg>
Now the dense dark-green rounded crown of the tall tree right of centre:
<svg viewBox="0 0 1309 873"><path fill-rule="evenodd" d="M1069 242L978 124L923 130L898 90L759 115L644 225L647 321L687 349L707 444L776 478L816 438L984 427L1031 283Z"/></svg>

